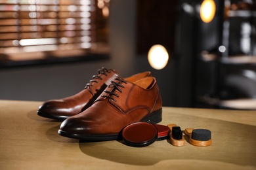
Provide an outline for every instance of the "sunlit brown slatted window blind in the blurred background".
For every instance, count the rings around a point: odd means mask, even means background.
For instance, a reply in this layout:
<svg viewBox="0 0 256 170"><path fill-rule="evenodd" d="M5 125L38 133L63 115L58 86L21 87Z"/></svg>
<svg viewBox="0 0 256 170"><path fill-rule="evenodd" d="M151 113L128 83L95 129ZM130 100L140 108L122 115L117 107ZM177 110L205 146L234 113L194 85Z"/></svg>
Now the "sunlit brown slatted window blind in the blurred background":
<svg viewBox="0 0 256 170"><path fill-rule="evenodd" d="M30 59L29 54L44 58L104 49L102 9L109 1L102 2L100 9L96 0L0 0L0 55Z"/></svg>

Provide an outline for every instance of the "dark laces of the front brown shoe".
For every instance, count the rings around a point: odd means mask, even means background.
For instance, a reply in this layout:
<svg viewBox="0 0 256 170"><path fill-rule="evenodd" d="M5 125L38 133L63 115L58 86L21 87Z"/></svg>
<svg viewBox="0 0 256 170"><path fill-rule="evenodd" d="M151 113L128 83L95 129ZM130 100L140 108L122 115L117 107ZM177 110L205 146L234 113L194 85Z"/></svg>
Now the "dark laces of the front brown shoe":
<svg viewBox="0 0 256 170"><path fill-rule="evenodd" d="M120 93L122 92L122 90L119 88L125 88L125 86L123 86L121 84L121 82L127 84L127 82L125 80L123 80L122 78L119 78L119 77L116 77L115 78L116 80L118 80L118 82L115 82L114 80L111 81L111 84L108 85L108 87L112 88L113 87L113 90L110 92L108 90L104 90L105 93L108 93L110 95L101 95L102 97L106 97L108 99L112 99L113 101L116 101L116 99L114 99L112 97L112 95L116 96L116 97L119 97L119 95L117 93L115 93L116 90L118 90Z"/></svg>

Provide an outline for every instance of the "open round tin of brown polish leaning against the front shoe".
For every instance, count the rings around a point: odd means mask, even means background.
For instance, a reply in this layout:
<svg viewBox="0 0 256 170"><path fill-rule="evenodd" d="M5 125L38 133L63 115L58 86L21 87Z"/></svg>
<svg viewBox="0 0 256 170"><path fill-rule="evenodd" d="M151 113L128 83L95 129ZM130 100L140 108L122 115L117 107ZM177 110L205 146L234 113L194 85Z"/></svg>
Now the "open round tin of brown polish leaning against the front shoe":
<svg viewBox="0 0 256 170"><path fill-rule="evenodd" d="M123 128L123 141L129 146L148 146L158 139L158 129L154 124L136 122Z"/></svg>

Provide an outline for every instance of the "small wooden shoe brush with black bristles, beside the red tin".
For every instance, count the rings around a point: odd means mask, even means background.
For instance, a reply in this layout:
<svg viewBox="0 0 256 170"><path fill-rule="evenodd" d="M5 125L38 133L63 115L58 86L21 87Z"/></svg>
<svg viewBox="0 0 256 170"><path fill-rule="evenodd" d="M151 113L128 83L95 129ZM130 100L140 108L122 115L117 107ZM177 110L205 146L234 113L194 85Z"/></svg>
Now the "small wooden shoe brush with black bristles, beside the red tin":
<svg viewBox="0 0 256 170"><path fill-rule="evenodd" d="M171 144L173 144L173 146L184 146L185 139L182 134L181 127L176 124L168 124L167 126L171 129L171 133L169 135Z"/></svg>

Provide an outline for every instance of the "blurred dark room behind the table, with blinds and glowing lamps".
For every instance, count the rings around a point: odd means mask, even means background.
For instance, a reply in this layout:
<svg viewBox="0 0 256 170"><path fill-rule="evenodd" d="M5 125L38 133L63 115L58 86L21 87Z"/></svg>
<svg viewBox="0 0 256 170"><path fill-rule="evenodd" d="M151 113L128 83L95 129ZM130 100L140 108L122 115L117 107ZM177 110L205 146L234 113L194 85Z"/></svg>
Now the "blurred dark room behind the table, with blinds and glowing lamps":
<svg viewBox="0 0 256 170"><path fill-rule="evenodd" d="M68 97L106 67L151 71L164 106L255 110L255 17L254 0L0 0L0 99Z"/></svg>

